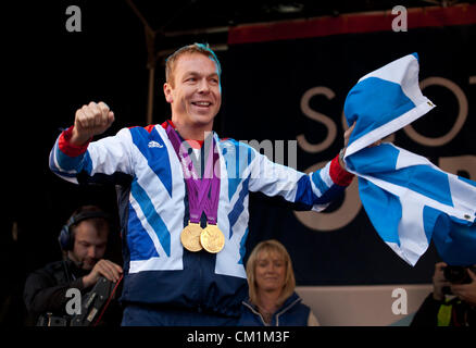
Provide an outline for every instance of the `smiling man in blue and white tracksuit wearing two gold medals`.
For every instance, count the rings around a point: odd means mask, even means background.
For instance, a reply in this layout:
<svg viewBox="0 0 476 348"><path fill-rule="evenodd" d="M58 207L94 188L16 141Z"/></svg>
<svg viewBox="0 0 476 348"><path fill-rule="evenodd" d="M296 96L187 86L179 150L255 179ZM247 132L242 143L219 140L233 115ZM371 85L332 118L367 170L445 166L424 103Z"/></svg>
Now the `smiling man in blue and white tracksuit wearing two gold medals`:
<svg viewBox="0 0 476 348"><path fill-rule="evenodd" d="M74 125L51 151L50 167L62 178L121 187L123 325L235 325L248 294L249 191L321 211L352 181L339 156L308 175L248 145L220 139L212 132L220 78L210 48L184 47L166 64L171 120L92 141L114 113L104 102L90 102L76 111ZM210 167L212 178L202 181Z"/></svg>

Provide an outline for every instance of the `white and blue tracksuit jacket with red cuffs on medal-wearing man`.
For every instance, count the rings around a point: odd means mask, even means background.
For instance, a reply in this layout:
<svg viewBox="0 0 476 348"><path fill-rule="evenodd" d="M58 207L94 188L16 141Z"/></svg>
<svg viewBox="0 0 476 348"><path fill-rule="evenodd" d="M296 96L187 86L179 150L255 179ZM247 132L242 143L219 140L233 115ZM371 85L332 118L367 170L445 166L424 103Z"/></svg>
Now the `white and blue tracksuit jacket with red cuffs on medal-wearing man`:
<svg viewBox="0 0 476 348"><path fill-rule="evenodd" d="M184 174L164 127L124 128L84 147L68 142L70 128L50 153L50 169L75 184L110 182L121 187L123 301L238 315L248 296L242 260L249 192L281 196L321 211L350 184L351 176L337 157L308 175L215 134L221 166L217 223L225 246L216 254L190 252L180 244L189 217Z"/></svg>

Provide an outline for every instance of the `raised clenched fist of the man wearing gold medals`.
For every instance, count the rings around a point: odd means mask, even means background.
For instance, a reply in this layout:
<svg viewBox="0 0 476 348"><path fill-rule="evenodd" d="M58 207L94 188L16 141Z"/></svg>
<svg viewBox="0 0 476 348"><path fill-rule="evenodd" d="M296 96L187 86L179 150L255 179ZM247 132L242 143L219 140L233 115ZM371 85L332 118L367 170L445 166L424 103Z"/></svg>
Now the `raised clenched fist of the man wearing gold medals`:
<svg viewBox="0 0 476 348"><path fill-rule="evenodd" d="M91 101L76 111L71 144L84 145L95 135L104 133L114 122L114 113L100 101Z"/></svg>

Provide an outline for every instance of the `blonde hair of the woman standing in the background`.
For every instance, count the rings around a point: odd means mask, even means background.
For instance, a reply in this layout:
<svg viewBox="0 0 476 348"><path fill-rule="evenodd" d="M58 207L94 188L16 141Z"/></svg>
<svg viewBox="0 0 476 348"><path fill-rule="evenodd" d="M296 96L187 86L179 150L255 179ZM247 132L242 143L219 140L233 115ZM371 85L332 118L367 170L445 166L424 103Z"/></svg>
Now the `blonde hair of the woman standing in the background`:
<svg viewBox="0 0 476 348"><path fill-rule="evenodd" d="M256 279L254 278L254 271L256 269L258 258L263 253L276 253L283 258L286 266L285 273L285 285L283 286L281 294L278 298L278 307L281 306L286 299L291 296L295 291L296 279L295 272L292 271L292 262L291 258L286 250L285 246L277 241L276 239L270 239L259 243L253 251L251 251L250 257L247 261L247 276L248 276L248 285L249 285L249 295L250 301L253 304L256 304L258 301L258 285Z"/></svg>

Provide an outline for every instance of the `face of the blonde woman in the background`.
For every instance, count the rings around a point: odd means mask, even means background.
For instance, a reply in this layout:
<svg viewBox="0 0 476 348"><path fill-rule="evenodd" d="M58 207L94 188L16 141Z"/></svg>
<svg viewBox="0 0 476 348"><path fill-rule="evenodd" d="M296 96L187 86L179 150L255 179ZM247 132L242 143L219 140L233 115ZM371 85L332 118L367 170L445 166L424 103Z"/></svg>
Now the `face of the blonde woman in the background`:
<svg viewBox="0 0 476 348"><path fill-rule="evenodd" d="M254 278L259 291L283 289L286 282L285 259L273 251L261 251L256 258Z"/></svg>

